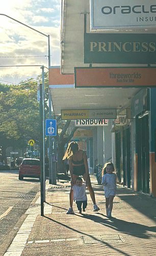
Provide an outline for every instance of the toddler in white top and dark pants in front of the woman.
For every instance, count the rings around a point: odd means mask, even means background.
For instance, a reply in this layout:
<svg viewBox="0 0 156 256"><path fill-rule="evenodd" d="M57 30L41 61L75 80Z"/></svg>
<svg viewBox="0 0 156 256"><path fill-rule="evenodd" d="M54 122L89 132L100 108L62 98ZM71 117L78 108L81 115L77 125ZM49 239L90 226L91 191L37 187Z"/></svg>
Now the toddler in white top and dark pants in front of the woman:
<svg viewBox="0 0 156 256"><path fill-rule="evenodd" d="M77 177L75 181L75 185L72 187L74 201L76 201L77 209L79 213L82 213L82 205L83 211L85 211L87 207L87 194L86 194L86 184L83 183L81 177Z"/></svg>

